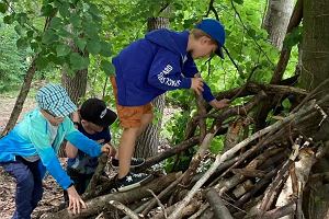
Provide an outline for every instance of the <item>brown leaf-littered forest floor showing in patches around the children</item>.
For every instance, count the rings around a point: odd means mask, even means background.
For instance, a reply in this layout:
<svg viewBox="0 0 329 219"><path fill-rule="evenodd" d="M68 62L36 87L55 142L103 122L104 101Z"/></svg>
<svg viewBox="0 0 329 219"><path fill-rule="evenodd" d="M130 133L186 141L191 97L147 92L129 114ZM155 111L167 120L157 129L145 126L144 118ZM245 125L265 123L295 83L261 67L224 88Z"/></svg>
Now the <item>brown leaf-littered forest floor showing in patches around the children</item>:
<svg viewBox="0 0 329 219"><path fill-rule="evenodd" d="M9 120L10 114L15 104L15 97L10 95L0 95L0 132L4 129L5 124ZM32 97L27 97L23 111L21 113L20 119L22 116L30 110L35 107L35 101ZM163 122L169 119L173 115L172 108L164 110ZM162 123L164 124L164 123ZM163 146L164 147L164 146ZM163 148L161 147L161 148ZM60 159L63 165L66 163L66 159ZM14 194L15 194L15 182L14 180L7 174L3 169L0 166L0 219L10 219L15 209L14 204ZM33 211L32 218L36 218L41 212L45 212L48 209L59 206L63 204L63 189L58 186L56 181L48 175L44 180L44 195L42 201L38 204L38 207Z"/></svg>

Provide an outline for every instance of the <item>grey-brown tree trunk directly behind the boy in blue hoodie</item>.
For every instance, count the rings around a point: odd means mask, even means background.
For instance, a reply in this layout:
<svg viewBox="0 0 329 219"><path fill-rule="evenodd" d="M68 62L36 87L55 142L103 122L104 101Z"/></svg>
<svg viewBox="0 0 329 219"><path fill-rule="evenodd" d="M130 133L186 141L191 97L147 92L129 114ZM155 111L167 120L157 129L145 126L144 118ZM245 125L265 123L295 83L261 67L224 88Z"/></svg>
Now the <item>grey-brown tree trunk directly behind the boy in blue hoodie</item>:
<svg viewBox="0 0 329 219"><path fill-rule="evenodd" d="M167 18L150 18L147 22L148 31L157 28L168 28L169 19ZM140 135L137 143L135 157L149 158L158 152L159 131L162 123L162 114L164 108L164 94L158 96L152 101L156 123L147 126L145 131Z"/></svg>

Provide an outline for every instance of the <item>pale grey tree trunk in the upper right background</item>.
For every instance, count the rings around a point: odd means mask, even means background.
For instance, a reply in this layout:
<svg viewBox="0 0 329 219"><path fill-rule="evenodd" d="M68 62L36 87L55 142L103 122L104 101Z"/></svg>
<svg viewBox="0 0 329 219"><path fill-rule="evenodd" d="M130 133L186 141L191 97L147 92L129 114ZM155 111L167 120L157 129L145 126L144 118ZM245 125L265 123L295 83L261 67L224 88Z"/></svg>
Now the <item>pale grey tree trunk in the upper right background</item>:
<svg viewBox="0 0 329 219"><path fill-rule="evenodd" d="M294 0L269 0L263 26L269 33L271 43L282 48L286 28L294 9Z"/></svg>

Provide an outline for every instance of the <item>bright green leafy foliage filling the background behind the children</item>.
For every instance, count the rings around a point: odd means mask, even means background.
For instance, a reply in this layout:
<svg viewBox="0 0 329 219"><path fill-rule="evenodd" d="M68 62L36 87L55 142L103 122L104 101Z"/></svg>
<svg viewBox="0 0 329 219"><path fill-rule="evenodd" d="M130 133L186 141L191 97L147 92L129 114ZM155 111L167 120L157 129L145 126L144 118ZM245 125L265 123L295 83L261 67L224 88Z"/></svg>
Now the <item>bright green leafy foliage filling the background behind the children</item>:
<svg viewBox="0 0 329 219"><path fill-rule="evenodd" d="M3 22L10 27L1 32L1 37L7 35L8 43L0 45L1 55L4 54L0 58L0 89L1 81L21 80L21 72L24 72L27 65L24 60L38 54L37 66L44 69L41 73L43 77L58 80L57 67L71 73L88 68L91 88L88 95L101 93L109 105L114 107L113 94L109 91L109 76L114 73L111 58L133 41L143 37L147 31L147 20L151 16L169 18L170 28L183 31L193 28L206 15L218 15L227 33L226 48L229 55L226 54L224 60L216 57L208 62L196 61L214 93L245 84L256 66L258 68L251 81L269 82L277 62L279 50L268 42L268 34L261 28L266 1L214 1L217 14L214 11L207 13L208 3L200 0L21 0L9 5L7 1L0 0ZM296 45L300 41L302 31L298 28L293 32L285 44L292 47ZM5 54L5 50L11 53ZM228 56L237 64L238 70ZM284 78L293 74L296 62L297 49L294 48ZM45 73L47 68L56 69L53 71L55 73ZM183 111L166 124L163 131L164 137L175 145L183 139L186 122L196 111L195 104L191 104L194 103L194 95L186 91L169 92L167 102ZM115 127L115 131L117 129ZM217 153L222 147L223 140L216 138L212 151ZM182 163L191 154L182 157Z"/></svg>

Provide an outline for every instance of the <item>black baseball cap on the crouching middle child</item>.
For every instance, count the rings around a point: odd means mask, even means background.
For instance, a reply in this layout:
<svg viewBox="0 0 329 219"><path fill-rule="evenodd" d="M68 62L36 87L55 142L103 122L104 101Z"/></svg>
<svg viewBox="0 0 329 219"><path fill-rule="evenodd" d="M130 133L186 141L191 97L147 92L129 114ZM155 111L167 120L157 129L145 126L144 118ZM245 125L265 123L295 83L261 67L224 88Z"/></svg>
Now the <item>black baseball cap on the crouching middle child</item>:
<svg viewBox="0 0 329 219"><path fill-rule="evenodd" d="M79 112L82 119L102 127L109 127L117 118L116 113L107 108L104 101L94 97L84 101Z"/></svg>

